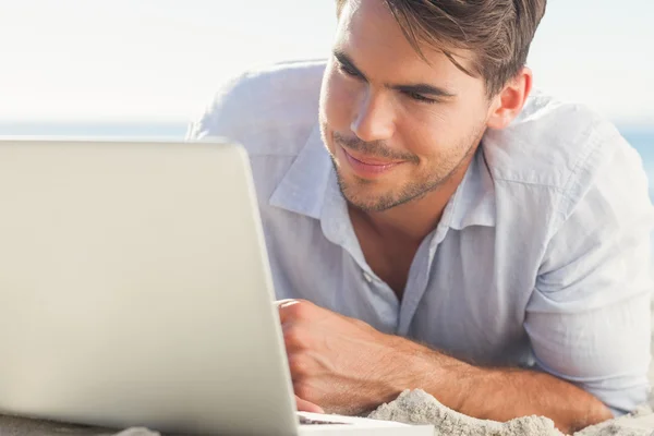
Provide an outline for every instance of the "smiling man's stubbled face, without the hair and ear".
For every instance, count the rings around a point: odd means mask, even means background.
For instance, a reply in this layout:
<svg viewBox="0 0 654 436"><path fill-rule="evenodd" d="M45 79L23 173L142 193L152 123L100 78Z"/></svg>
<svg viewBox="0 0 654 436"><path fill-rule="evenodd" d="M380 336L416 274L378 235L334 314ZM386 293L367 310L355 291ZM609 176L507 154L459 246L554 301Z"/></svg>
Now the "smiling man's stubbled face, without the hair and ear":
<svg viewBox="0 0 654 436"><path fill-rule="evenodd" d="M483 80L440 51L422 50L428 62L382 1L343 8L323 81L320 129L344 197L363 210L428 194L468 161L486 129ZM458 55L468 69L471 55Z"/></svg>

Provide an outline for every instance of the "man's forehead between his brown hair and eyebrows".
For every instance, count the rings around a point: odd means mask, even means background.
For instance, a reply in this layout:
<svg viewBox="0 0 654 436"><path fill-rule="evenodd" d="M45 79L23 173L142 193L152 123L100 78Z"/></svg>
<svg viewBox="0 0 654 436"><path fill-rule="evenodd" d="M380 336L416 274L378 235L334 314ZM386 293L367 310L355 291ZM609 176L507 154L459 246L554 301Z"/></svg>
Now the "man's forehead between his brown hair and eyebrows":
<svg viewBox="0 0 654 436"><path fill-rule="evenodd" d="M459 70L438 48L419 43L421 53L409 43L400 24L382 0L349 0L339 16L336 49L347 53L362 72L375 76L409 76L411 82L468 82L473 78ZM448 50L465 69L472 53ZM395 77L393 77L395 78ZM468 78L468 80L467 80ZM473 78L474 80L474 78ZM475 80L476 81L476 80ZM395 80L397 82L397 80Z"/></svg>

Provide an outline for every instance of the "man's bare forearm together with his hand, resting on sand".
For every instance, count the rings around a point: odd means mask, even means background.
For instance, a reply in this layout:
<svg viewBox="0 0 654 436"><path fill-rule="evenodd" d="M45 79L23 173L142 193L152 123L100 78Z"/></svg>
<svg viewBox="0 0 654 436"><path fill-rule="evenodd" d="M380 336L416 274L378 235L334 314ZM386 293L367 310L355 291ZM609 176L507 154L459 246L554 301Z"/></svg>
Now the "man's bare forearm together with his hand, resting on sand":
<svg viewBox="0 0 654 436"><path fill-rule="evenodd" d="M571 431L611 416L592 395L548 374L475 367L306 301L279 310L295 395L330 413L360 414L423 389L450 409L500 422L536 414Z"/></svg>

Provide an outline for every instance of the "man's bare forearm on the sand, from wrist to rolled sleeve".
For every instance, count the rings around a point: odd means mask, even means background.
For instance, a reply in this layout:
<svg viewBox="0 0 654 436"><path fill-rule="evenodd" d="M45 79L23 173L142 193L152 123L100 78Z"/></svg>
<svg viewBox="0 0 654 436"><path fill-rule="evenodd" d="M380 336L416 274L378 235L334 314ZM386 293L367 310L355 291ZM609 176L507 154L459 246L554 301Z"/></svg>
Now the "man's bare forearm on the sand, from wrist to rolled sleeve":
<svg viewBox="0 0 654 436"><path fill-rule="evenodd" d="M595 397L549 374L476 367L399 340L403 342L399 349L405 350L401 355L409 356L402 366L413 374L411 385L467 415L499 422L543 415L570 434L611 417L608 408Z"/></svg>

